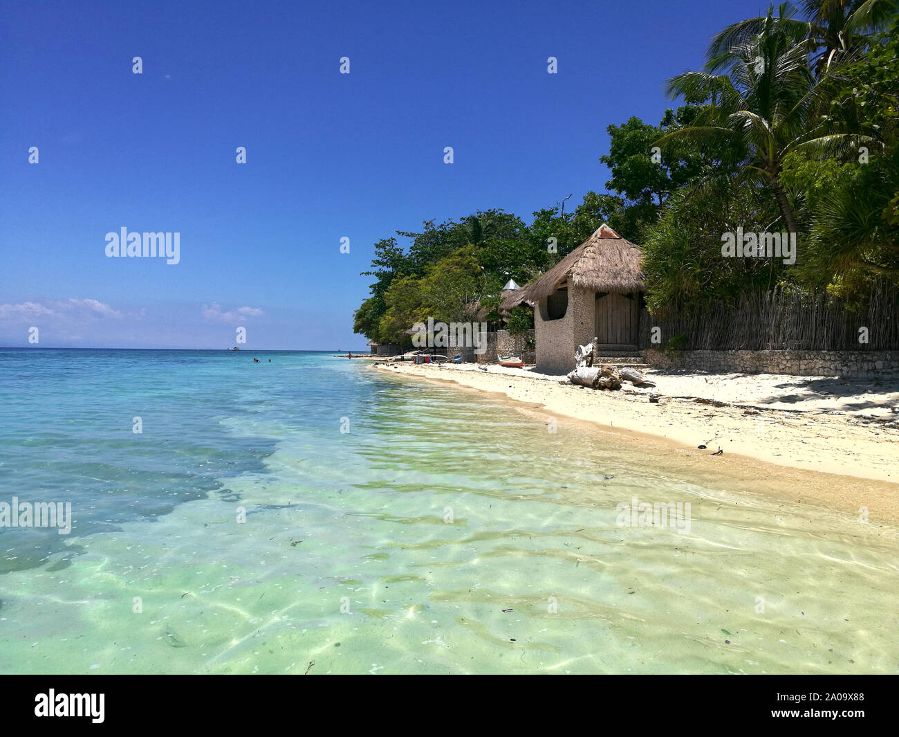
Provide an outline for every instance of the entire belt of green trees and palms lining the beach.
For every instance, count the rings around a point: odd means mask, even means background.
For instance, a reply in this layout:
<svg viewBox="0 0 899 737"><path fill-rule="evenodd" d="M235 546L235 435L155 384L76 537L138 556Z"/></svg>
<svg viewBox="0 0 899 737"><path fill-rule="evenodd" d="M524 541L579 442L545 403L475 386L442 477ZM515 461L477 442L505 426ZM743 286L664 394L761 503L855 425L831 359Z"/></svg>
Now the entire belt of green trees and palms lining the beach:
<svg viewBox="0 0 899 737"><path fill-rule="evenodd" d="M499 314L503 284L530 282L603 222L643 247L654 313L775 286L864 301L878 280L899 283L896 0L771 7L721 31L704 69L668 89L684 104L658 125L631 117L608 128L605 193L568 211L565 198L530 224L476 211L397 232L407 249L375 244L354 330L408 344L415 322L485 310L521 333L532 316ZM723 235L737 229L795 233L796 263L723 257Z"/></svg>

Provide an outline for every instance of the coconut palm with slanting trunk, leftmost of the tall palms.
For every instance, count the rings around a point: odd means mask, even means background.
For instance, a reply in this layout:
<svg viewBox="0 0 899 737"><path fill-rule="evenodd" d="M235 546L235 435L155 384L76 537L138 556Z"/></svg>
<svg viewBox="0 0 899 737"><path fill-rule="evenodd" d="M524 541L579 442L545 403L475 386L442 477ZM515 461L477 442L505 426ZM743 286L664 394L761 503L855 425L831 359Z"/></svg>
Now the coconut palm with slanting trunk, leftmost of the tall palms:
<svg viewBox="0 0 899 737"><path fill-rule="evenodd" d="M686 72L668 81L668 93L688 102L708 102L690 126L658 141L670 146L678 139L699 145L729 145L738 176L770 187L790 232L797 232L792 205L781 181L784 157L791 151L823 155L867 140L846 131L825 130L820 114L823 85L815 79L809 58L817 41L797 25L795 9L773 7L754 33L734 36L725 49L713 49L706 71ZM831 123L832 124L832 123Z"/></svg>

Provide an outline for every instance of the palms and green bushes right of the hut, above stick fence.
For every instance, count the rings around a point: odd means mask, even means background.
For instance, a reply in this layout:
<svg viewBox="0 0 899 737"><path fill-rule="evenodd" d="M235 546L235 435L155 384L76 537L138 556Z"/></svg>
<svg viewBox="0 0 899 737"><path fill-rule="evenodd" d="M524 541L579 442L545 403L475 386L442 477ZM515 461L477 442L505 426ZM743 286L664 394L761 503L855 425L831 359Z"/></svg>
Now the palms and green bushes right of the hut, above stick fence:
<svg viewBox="0 0 899 737"><path fill-rule="evenodd" d="M878 280L897 281L895 0L805 10L806 21L781 4L734 23L704 71L670 80L701 109L660 138L663 150L715 145L721 166L672 194L640 241L651 311L777 285L858 303ZM796 264L721 257L721 236L738 226L797 233Z"/></svg>

